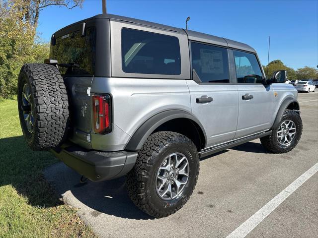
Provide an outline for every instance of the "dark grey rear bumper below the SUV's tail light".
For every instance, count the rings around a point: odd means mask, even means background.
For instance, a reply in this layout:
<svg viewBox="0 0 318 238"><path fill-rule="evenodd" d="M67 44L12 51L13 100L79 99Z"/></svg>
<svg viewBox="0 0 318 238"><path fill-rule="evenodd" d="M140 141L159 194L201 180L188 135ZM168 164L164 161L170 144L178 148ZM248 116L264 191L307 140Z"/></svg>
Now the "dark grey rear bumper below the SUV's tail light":
<svg viewBox="0 0 318 238"><path fill-rule="evenodd" d="M63 145L50 150L80 175L92 181L103 181L126 175L135 165L137 152L104 152L86 150L77 145Z"/></svg>

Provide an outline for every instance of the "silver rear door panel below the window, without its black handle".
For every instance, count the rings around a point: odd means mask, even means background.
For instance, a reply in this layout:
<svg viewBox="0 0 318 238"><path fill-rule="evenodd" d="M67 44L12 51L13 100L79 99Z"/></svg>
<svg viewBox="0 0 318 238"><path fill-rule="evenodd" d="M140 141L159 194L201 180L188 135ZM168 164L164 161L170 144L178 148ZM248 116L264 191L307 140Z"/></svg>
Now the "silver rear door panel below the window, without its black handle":
<svg viewBox="0 0 318 238"><path fill-rule="evenodd" d="M200 120L207 134L207 147L235 136L239 115L239 96L234 84L197 84L187 80L192 115ZM210 103L196 103L196 98L212 97Z"/></svg>

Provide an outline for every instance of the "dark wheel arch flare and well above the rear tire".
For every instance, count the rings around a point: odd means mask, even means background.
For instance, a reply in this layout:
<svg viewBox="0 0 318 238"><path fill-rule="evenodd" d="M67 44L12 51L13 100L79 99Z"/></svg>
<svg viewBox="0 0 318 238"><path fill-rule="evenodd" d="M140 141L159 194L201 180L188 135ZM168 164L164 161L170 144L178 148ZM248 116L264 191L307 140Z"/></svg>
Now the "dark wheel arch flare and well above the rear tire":
<svg viewBox="0 0 318 238"><path fill-rule="evenodd" d="M207 136L198 119L182 110L168 110L146 120L132 135L125 150L140 150L154 132L169 130L189 137L198 151L206 146Z"/></svg>

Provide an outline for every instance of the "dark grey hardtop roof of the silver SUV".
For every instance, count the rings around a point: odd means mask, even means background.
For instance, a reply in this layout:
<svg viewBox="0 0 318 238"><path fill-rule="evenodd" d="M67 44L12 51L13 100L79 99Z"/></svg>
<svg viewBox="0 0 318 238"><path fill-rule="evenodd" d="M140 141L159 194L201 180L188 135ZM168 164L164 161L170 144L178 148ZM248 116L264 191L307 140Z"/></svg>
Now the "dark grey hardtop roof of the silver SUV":
<svg viewBox="0 0 318 238"><path fill-rule="evenodd" d="M107 19L114 19L114 20L119 20L119 21L127 21L127 22L132 22L135 24L144 25L144 26L150 26L150 27L160 28L160 29L164 29L164 30L174 31L174 32L178 32L181 34L186 33L188 35L189 40L199 41L199 42L204 42L204 43L209 43L209 44L214 44L214 45L220 45L220 46L225 46L225 47L230 47L230 48L234 48L234 49L239 49L239 50L243 50L243 51L256 53L256 51L252 47L250 47L249 45L244 44L244 43L240 43L237 41L233 41L230 39L217 37L217 36L213 36L213 35L209 35L209 34L205 34L205 33L201 33L201 32L185 30L182 28L162 25L162 24L158 24L158 23L154 23L154 22L150 22L150 21L139 20L139 19L130 18L130 17L126 17L126 16L113 15L113 14L98 14L98 15L95 15L93 17L90 17L90 18L81 20L79 22L73 23L69 26L66 26L66 27L60 29L59 31L65 30L66 28L68 28L70 26L85 22L87 20L93 20L93 19L98 19L98 18L107 18ZM59 31L57 31L57 32L59 32ZM54 33L54 34L56 34L56 33Z"/></svg>

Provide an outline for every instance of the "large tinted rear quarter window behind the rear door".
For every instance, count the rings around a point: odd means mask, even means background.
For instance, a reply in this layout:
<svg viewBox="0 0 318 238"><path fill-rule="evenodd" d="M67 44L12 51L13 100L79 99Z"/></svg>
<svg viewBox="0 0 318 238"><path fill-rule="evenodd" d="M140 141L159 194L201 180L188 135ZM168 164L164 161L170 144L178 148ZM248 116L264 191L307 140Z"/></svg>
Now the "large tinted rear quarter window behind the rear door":
<svg viewBox="0 0 318 238"><path fill-rule="evenodd" d="M177 37L123 28L121 39L124 72L167 75L181 73Z"/></svg>

